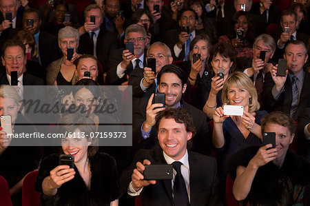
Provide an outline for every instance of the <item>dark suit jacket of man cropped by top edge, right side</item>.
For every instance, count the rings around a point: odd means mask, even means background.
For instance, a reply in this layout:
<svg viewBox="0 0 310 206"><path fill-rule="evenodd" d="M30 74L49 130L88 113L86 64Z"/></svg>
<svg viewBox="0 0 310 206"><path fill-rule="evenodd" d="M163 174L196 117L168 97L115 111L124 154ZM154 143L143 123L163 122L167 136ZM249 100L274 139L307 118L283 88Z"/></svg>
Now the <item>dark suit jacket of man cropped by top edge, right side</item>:
<svg viewBox="0 0 310 206"><path fill-rule="evenodd" d="M250 12L252 14L256 14L256 15L262 17L262 19L265 22L264 17L262 16L262 14L260 14L260 2L253 3L251 6ZM267 27L267 25L269 25L270 23L279 23L280 22L280 14L281 14L280 8L271 4L271 6L269 7L268 22L265 23L265 27Z"/></svg>

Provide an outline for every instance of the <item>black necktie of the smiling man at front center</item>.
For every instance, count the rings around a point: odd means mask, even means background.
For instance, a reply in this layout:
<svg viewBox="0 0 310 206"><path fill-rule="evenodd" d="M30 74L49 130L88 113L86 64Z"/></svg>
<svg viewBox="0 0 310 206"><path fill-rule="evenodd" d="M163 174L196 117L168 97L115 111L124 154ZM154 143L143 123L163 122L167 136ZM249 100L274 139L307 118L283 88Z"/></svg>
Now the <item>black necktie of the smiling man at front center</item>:
<svg viewBox="0 0 310 206"><path fill-rule="evenodd" d="M176 177L174 178L174 205L175 206L188 206L189 200L185 181L180 172L180 166L183 165L179 161L172 163L172 167L176 170Z"/></svg>

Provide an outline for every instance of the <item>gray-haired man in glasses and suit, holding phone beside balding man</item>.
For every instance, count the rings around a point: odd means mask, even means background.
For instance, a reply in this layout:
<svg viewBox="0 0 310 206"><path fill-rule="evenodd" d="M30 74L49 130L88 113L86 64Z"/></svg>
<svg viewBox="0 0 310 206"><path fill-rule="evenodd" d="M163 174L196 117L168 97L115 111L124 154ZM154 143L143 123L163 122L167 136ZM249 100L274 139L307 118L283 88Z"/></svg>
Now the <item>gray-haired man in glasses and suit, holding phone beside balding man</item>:
<svg viewBox="0 0 310 206"><path fill-rule="evenodd" d="M109 58L109 70L107 71L107 83L112 85L127 84L132 70L144 68L147 45L145 29L138 24L130 25L125 31L124 43L134 43L134 54L124 48L114 50Z"/></svg>

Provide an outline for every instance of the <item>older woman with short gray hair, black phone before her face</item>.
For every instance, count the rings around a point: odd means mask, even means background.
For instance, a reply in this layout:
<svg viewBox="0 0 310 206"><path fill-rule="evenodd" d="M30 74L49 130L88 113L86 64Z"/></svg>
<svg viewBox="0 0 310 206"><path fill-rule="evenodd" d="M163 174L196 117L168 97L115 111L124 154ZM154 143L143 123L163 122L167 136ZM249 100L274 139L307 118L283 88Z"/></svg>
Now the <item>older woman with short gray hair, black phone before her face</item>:
<svg viewBox="0 0 310 206"><path fill-rule="evenodd" d="M58 44L63 57L53 61L46 69L47 85L72 85L75 75L74 61L81 56L76 53L79 47L79 32L71 26L59 30Z"/></svg>

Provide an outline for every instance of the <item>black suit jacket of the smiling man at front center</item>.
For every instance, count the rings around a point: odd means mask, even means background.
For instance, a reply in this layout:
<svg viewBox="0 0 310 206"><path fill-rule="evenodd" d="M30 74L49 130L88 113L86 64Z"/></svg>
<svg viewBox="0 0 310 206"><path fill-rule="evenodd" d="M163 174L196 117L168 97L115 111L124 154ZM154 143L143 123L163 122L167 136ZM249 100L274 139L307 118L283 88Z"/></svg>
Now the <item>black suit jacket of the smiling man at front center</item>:
<svg viewBox="0 0 310 206"><path fill-rule="evenodd" d="M132 163L132 169L121 176L121 187L127 192L136 162L143 163L148 159L151 164L167 164L163 150L139 150ZM190 205L222 205L218 189L219 181L216 160L196 152L188 152ZM148 185L141 193L142 205L174 205L172 198L172 181L156 181L155 185Z"/></svg>

